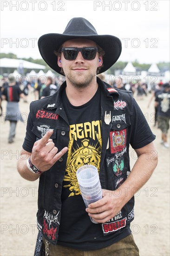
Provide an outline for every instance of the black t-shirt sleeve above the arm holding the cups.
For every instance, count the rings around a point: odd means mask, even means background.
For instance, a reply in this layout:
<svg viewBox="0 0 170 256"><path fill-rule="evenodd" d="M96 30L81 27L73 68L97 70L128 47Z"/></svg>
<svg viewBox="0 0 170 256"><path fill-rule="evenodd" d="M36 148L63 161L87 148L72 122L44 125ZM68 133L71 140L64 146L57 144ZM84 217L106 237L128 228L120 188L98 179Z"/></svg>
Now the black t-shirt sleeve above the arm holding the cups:
<svg viewBox="0 0 170 256"><path fill-rule="evenodd" d="M152 133L144 114L133 99L133 121L131 132L131 147L134 149L142 148L154 141L156 136Z"/></svg>

